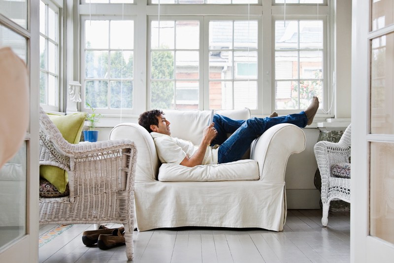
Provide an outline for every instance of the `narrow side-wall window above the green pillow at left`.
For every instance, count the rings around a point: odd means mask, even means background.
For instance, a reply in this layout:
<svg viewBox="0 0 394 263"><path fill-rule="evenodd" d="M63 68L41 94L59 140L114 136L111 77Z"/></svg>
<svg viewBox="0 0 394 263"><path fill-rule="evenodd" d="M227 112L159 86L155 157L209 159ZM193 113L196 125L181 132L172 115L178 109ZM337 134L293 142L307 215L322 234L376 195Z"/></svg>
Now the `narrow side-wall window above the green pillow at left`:
<svg viewBox="0 0 394 263"><path fill-rule="evenodd" d="M40 1L40 104L60 111L59 8Z"/></svg>

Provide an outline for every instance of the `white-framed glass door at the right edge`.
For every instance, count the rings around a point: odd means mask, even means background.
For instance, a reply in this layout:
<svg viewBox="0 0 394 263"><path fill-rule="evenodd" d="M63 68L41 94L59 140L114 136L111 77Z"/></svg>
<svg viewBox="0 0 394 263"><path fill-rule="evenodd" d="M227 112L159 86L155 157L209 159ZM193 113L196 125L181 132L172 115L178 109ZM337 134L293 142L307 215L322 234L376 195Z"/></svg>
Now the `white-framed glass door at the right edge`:
<svg viewBox="0 0 394 263"><path fill-rule="evenodd" d="M389 263L394 258L394 2L353 2L351 259Z"/></svg>

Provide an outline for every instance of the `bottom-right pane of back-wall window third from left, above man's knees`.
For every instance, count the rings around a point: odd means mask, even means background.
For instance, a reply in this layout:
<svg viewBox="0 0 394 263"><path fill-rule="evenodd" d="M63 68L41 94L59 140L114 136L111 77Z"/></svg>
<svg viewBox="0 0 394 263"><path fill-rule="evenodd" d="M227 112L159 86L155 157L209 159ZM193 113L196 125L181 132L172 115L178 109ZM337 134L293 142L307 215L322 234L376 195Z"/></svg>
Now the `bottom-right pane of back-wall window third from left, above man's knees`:
<svg viewBox="0 0 394 263"><path fill-rule="evenodd" d="M257 81L234 82L234 109L257 109Z"/></svg>

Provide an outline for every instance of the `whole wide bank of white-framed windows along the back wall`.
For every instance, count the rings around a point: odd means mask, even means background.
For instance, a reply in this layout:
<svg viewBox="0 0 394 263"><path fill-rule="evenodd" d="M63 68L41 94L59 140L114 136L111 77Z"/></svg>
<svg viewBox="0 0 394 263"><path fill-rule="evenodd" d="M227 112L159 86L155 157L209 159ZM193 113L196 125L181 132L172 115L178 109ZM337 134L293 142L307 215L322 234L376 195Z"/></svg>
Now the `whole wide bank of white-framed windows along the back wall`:
<svg viewBox="0 0 394 263"><path fill-rule="evenodd" d="M327 109L327 0L113 1L79 8L82 99L98 112L288 114L315 95Z"/></svg>

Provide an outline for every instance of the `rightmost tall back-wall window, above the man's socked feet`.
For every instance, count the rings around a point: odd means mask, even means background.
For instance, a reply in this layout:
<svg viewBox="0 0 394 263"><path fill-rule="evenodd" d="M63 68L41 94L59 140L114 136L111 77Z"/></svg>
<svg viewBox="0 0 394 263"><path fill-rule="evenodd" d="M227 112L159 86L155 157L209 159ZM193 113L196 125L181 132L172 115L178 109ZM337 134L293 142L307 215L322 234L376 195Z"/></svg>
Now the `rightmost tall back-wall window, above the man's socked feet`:
<svg viewBox="0 0 394 263"><path fill-rule="evenodd" d="M323 21L275 21L275 109L306 109L323 99Z"/></svg>

